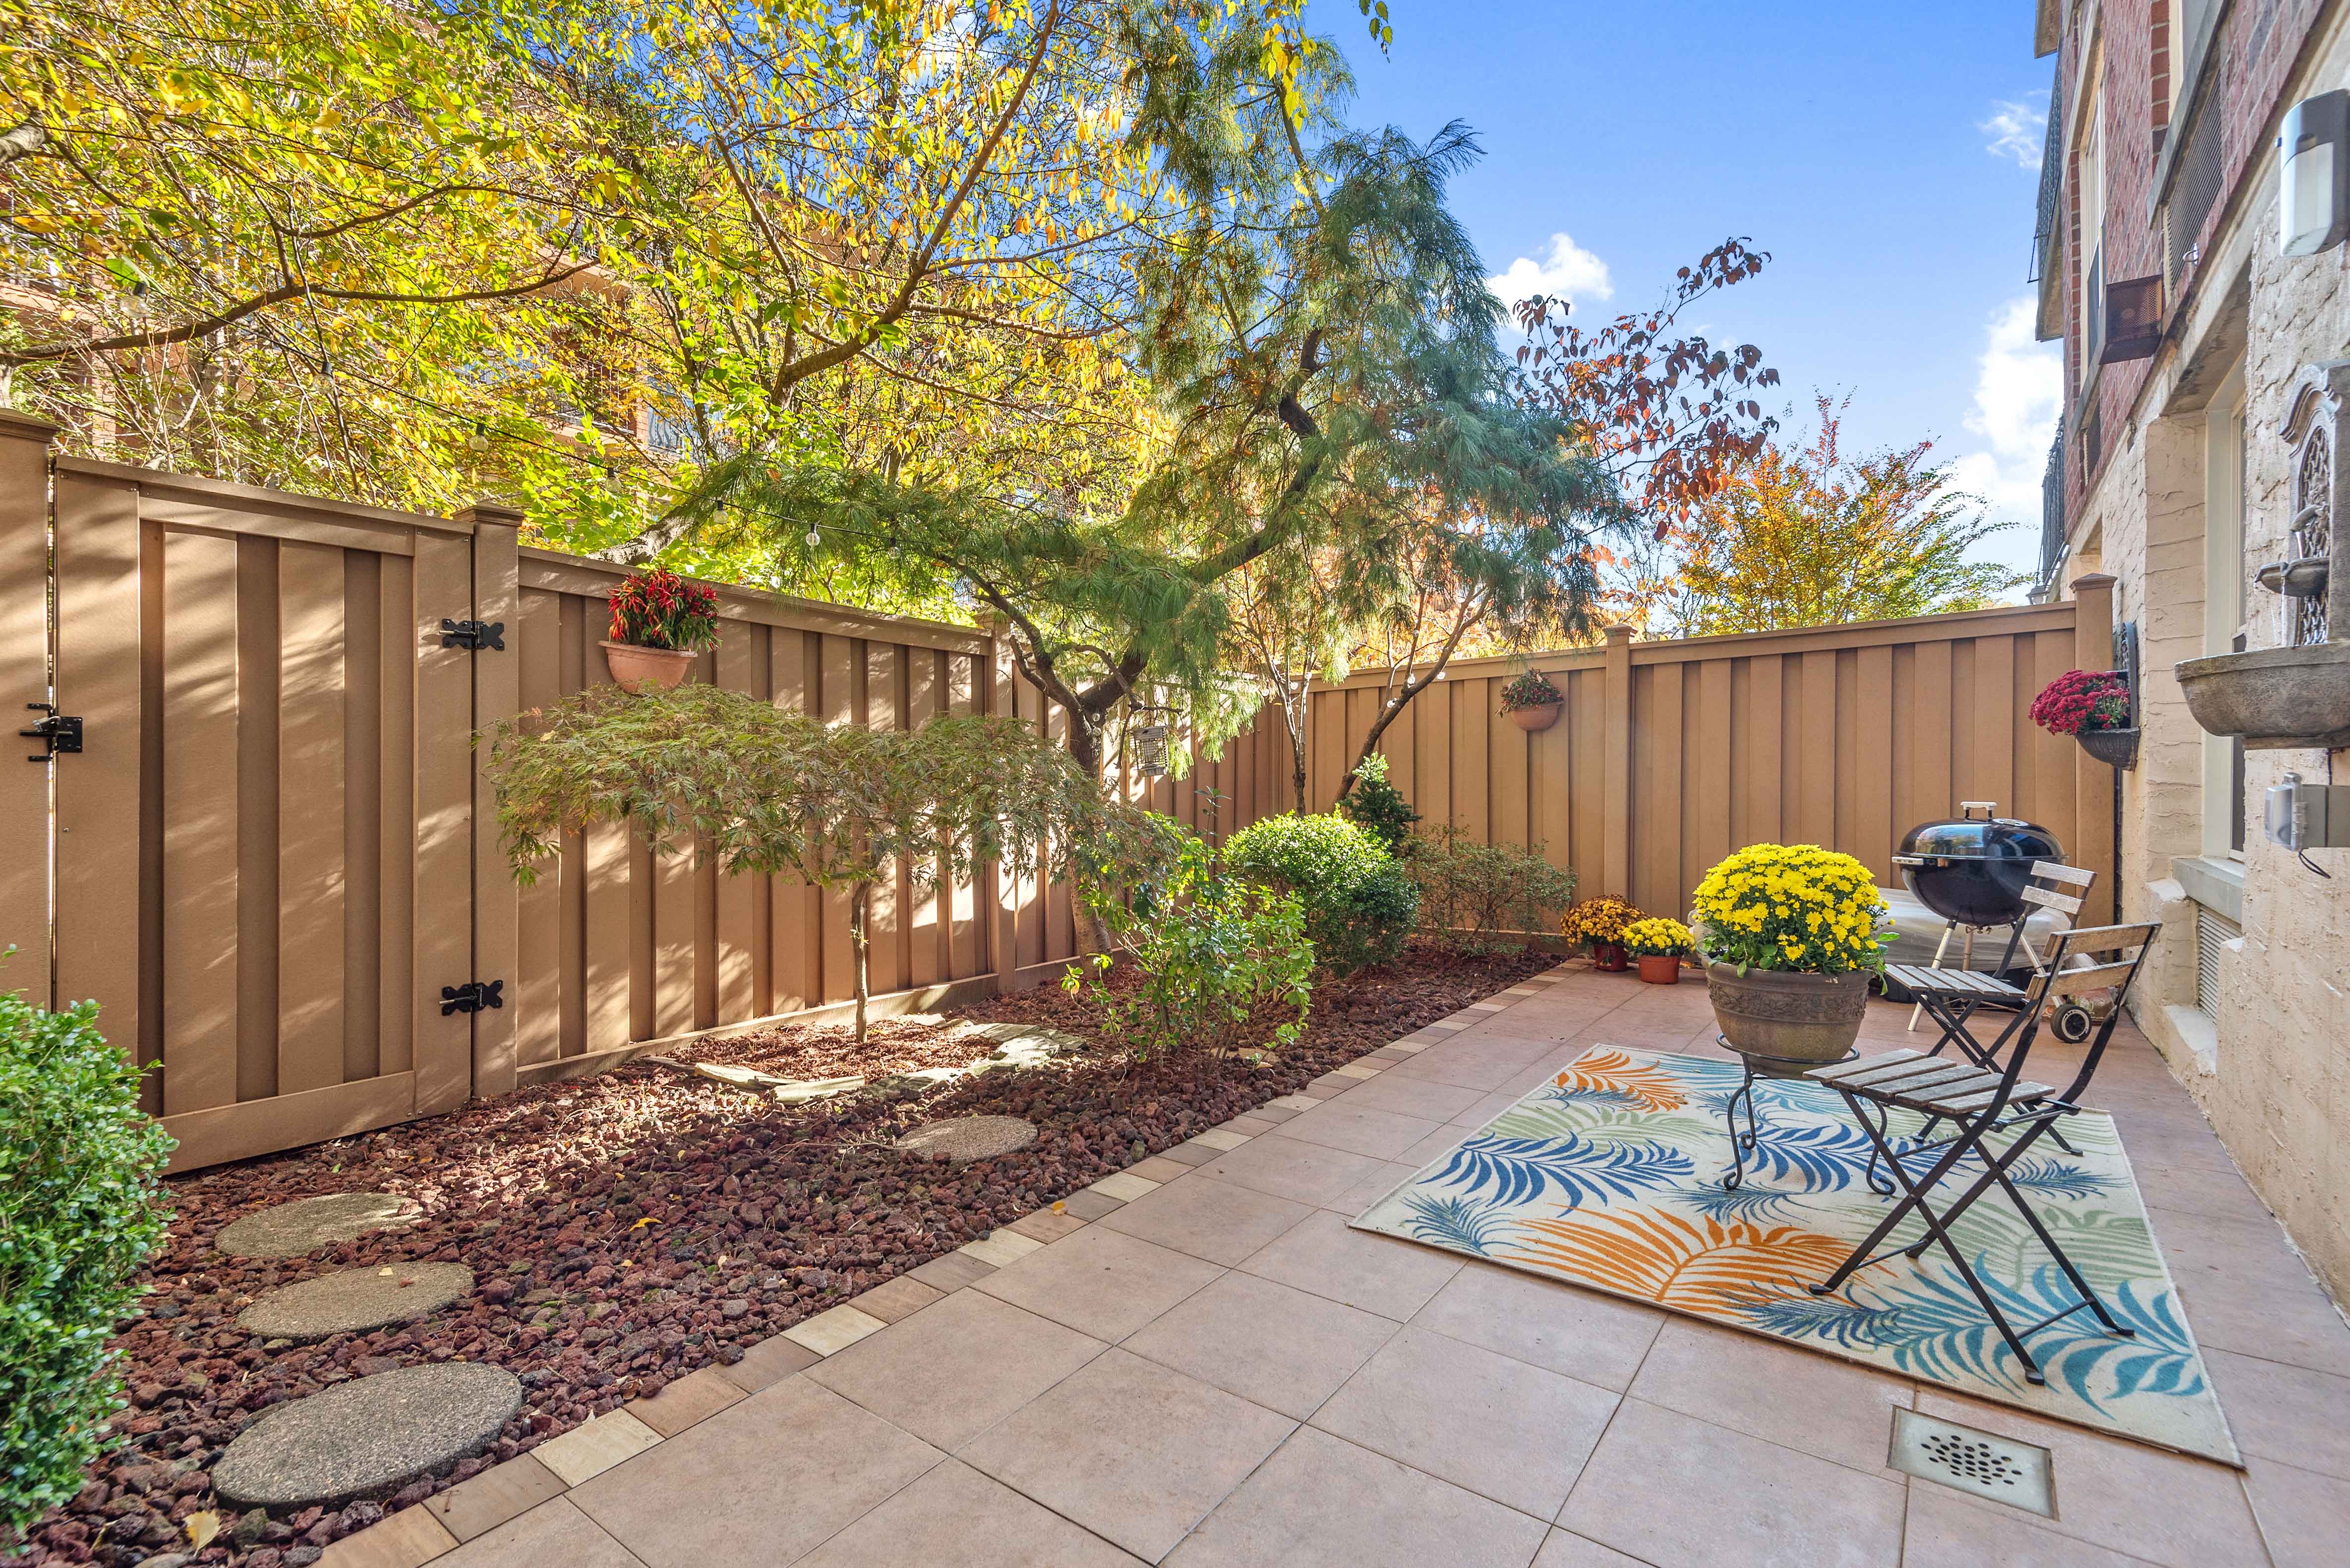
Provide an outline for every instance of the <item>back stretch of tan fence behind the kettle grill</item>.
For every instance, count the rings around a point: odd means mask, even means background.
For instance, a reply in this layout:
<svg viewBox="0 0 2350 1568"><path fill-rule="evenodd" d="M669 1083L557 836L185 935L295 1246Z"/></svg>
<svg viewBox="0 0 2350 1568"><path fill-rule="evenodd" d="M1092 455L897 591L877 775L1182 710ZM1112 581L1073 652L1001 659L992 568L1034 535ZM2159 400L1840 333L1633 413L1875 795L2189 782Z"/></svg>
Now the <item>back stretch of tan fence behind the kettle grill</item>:
<svg viewBox="0 0 2350 1568"><path fill-rule="evenodd" d="M2099 779L2073 742L2030 721L2033 695L2089 657L2092 641L2073 603L1659 643L1614 636L1532 655L1567 699L1532 735L1499 699L1528 662L1462 660L1386 728L1379 751L1424 829L1542 845L1577 873L1579 892L1671 913L1748 843L1821 843L1892 883L1899 836L1960 800L1998 800L2052 829L2077 864L2101 866L2110 800L2096 803ZM1384 681L1363 671L1314 690L1316 810L1337 798ZM1276 716L1262 723L1278 732Z"/></svg>

